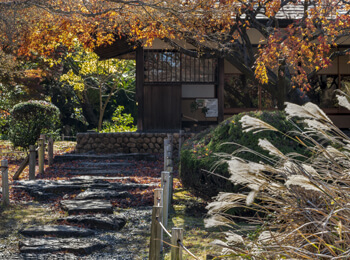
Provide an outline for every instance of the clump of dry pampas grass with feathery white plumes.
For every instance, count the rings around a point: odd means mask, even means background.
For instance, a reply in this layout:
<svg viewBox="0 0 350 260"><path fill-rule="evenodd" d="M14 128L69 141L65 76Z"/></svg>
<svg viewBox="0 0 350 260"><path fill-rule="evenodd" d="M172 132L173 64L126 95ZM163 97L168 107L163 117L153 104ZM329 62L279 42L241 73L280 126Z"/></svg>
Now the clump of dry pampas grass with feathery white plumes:
<svg viewBox="0 0 350 260"><path fill-rule="evenodd" d="M344 103L344 99L341 99ZM225 254L250 259L350 258L350 138L316 105L286 104L290 118L306 128L286 133L312 152L311 158L283 154L273 140L260 140L270 157L253 163L226 155L233 183L245 193L220 193L208 205L206 226L226 225L226 241L214 241ZM245 116L245 131L278 131ZM247 149L241 149L241 151ZM254 152L254 151L251 151ZM235 234L230 209L247 207L256 213L246 219L260 228L254 236ZM231 211L232 212L232 211Z"/></svg>

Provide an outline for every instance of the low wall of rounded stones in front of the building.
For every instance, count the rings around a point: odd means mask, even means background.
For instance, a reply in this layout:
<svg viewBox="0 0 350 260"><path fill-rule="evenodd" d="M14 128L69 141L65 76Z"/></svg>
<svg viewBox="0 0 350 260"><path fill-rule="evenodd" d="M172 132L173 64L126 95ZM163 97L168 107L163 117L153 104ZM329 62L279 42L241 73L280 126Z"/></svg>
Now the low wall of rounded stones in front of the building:
<svg viewBox="0 0 350 260"><path fill-rule="evenodd" d="M191 134L185 134L185 138ZM77 153L162 153L166 133L78 133ZM174 154L179 133L173 134Z"/></svg>

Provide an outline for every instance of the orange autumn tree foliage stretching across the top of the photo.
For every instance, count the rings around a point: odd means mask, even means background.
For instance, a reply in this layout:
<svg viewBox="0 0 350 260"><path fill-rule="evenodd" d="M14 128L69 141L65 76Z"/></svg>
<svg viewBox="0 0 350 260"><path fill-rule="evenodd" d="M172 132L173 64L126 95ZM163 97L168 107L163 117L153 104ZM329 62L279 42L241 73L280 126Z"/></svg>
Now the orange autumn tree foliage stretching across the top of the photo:
<svg viewBox="0 0 350 260"><path fill-rule="evenodd" d="M144 45L160 38L191 56L225 58L278 94L310 89L312 75L349 52L331 51L349 36L349 9L343 0L1 1L0 46L33 57L76 39L93 49L121 36Z"/></svg>

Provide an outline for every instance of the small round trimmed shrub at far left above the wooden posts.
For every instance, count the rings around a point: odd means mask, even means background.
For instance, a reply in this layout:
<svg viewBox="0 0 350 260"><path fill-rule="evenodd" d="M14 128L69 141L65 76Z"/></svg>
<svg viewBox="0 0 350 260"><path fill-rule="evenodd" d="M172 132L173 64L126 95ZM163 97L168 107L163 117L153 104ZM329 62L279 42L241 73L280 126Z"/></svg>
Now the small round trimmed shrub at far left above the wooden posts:
<svg viewBox="0 0 350 260"><path fill-rule="evenodd" d="M29 148L40 134L54 131L59 125L59 109L45 101L30 100L10 111L9 139L15 147Z"/></svg>

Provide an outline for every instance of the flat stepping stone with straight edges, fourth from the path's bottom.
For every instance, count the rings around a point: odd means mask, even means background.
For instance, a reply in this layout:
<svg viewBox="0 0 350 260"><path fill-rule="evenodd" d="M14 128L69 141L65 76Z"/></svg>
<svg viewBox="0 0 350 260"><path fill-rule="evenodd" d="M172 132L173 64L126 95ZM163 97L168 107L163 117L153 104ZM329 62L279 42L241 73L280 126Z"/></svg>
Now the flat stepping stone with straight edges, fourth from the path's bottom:
<svg viewBox="0 0 350 260"><path fill-rule="evenodd" d="M68 214L77 213L113 213L113 206L109 200L61 200L60 204Z"/></svg>

